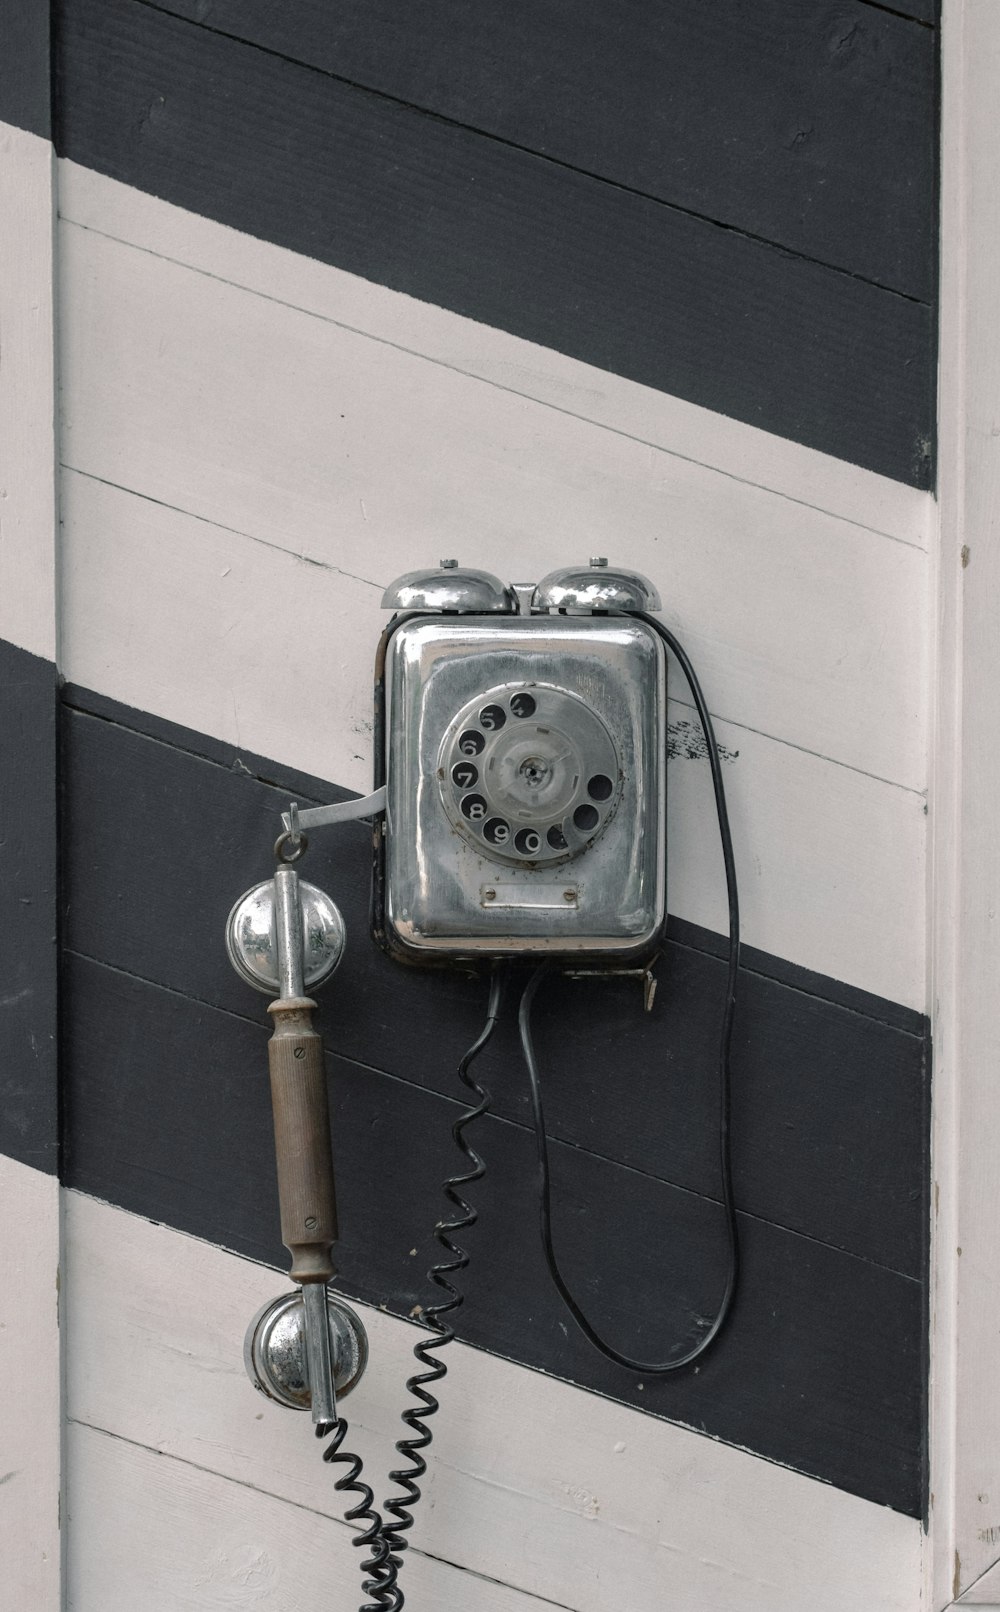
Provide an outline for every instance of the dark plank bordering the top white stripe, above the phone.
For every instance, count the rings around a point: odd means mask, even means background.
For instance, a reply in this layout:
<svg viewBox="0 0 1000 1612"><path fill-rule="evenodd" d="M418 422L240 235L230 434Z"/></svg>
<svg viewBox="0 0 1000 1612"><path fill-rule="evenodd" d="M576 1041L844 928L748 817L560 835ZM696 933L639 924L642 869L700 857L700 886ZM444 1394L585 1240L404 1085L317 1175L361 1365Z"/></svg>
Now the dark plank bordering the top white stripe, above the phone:
<svg viewBox="0 0 1000 1612"><path fill-rule="evenodd" d="M76 161L929 485L927 306L137 0L60 0L58 18Z"/></svg>

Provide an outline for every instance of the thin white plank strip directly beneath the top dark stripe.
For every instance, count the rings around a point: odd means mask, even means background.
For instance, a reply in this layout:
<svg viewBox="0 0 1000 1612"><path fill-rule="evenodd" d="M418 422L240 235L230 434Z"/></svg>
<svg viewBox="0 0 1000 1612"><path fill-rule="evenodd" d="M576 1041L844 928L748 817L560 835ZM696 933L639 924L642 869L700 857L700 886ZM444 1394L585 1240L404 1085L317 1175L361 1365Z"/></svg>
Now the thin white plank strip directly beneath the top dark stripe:
<svg viewBox="0 0 1000 1612"><path fill-rule="evenodd" d="M71 161L60 163L60 213L737 480L927 545L929 493L255 240Z"/></svg>

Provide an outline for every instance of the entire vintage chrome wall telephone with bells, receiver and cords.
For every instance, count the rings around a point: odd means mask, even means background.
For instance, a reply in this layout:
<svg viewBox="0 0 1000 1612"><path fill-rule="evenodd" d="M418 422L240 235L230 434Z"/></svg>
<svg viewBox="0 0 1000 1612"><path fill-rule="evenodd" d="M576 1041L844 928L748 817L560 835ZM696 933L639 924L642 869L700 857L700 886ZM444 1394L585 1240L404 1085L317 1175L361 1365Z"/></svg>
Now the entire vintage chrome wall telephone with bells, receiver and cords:
<svg viewBox="0 0 1000 1612"><path fill-rule="evenodd" d="M497 1024L506 966L535 962L521 995L519 1030L531 1083L539 1156L545 1259L556 1288L590 1343L647 1375L689 1365L718 1336L737 1283L737 1233L729 1167L729 1045L739 969L739 909L723 775L711 717L674 635L650 611L655 588L605 559L563 569L537 587L442 561L385 592L395 611L376 661L376 788L337 806L284 814L276 872L242 896L226 930L237 972L276 999L268 1046L282 1241L298 1291L265 1306L245 1343L252 1381L281 1404L311 1409L324 1459L345 1464L337 1488L358 1494L347 1517L363 1523L355 1543L363 1612L402 1607L400 1552L421 1498L426 1419L437 1410L429 1385L447 1367L429 1351L455 1333L445 1317L461 1304L452 1277L468 1256L453 1235L476 1220L463 1188L484 1174L465 1132L489 1107L471 1075ZM666 648L690 685L705 729L729 891L729 969L719 1043L721 1178L729 1275L711 1323L663 1362L634 1361L606 1343L569 1291L555 1256L542 1088L531 1035L539 987L553 970L637 972L652 1004L652 961L666 925ZM411 1436L397 1449L408 1465L390 1473L400 1493L374 1507L361 1462L342 1449L337 1409L365 1370L368 1344L356 1314L335 1298L331 1244L337 1236L323 1043L306 995L335 969L344 924L332 901L298 879L306 829L374 819L373 933L395 959L489 972L485 1024L458 1066L473 1104L453 1127L468 1170L445 1183L456 1214L435 1227L447 1259L431 1278L442 1302L424 1311L435 1335L415 1354L424 1369L408 1381L403 1412Z"/></svg>

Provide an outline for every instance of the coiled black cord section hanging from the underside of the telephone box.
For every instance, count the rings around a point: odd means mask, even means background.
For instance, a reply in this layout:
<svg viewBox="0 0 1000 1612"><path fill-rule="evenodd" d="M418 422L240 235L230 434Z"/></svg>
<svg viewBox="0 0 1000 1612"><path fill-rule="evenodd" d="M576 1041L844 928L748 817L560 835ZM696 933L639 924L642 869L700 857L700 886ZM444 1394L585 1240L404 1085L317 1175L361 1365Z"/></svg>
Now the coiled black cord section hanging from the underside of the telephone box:
<svg viewBox="0 0 1000 1612"><path fill-rule="evenodd" d="M440 1304L429 1304L427 1309L424 1311L424 1322L427 1327L431 1327L432 1332L437 1333L437 1336L431 1341L424 1341L421 1338L421 1341L413 1349L413 1354L424 1367L423 1372L415 1373L406 1383L406 1391L413 1394L413 1398L418 1401L416 1406L408 1406L402 1415L406 1427L411 1428L413 1436L402 1438L395 1446L400 1456L406 1457L410 1465L400 1467L395 1472L389 1473L390 1481L395 1483L400 1489L403 1489L403 1493L394 1496L392 1499L387 1499L382 1506L382 1510L395 1517L394 1523L385 1522L382 1525L382 1538L389 1544L390 1551L389 1560L392 1562L395 1572L398 1572L400 1567L400 1552L405 1551L408 1544L406 1531L413 1527L413 1507L421 1499L421 1488L418 1480L423 1478L424 1472L427 1470L427 1462L423 1457L423 1451L427 1448L427 1444L434 1436L432 1430L427 1427L424 1420L426 1417L435 1415L439 1409L439 1401L432 1393L429 1393L429 1385L439 1383L442 1377L447 1375L448 1370L445 1361L437 1359L437 1352L432 1354L431 1351L444 1349L445 1344L453 1341L455 1328L445 1320L445 1315L453 1314L463 1304L463 1294L448 1278L453 1277L456 1272L466 1269L469 1256L463 1248L458 1246L458 1243L452 1241L452 1233L465 1232L468 1227L476 1225L476 1220L479 1219L477 1211L461 1196L458 1188L469 1186L473 1182L481 1180L482 1175L485 1174L485 1164L482 1157L476 1153L473 1145L466 1140L465 1132L466 1127L473 1124L473 1120L481 1119L481 1116L489 1111L492 1098L490 1093L485 1090L485 1086L479 1085L479 1082L469 1074L469 1067L479 1056L479 1053L484 1049L490 1037L494 1035L494 1030L497 1028L497 1019L500 1016L500 1004L503 999L503 985L505 985L505 972L500 967L497 967L494 970L494 977L490 982L490 998L489 998L485 1024L477 1038L473 1041L468 1053L465 1054L465 1057L461 1059L461 1062L458 1064L458 1075L463 1085L468 1086L468 1090L476 1096L477 1101L474 1103L473 1107L468 1107L465 1114L460 1116L460 1119L455 1120L455 1124L452 1125L452 1136L455 1138L455 1143L458 1145L461 1153L469 1161L471 1169L466 1170L465 1175L452 1175L445 1182L444 1191L450 1199L450 1203L458 1211L458 1214L452 1220L439 1220L437 1225L434 1227L434 1236L437 1238L444 1251L448 1254L448 1259L442 1261L437 1265L432 1265L429 1277L435 1283L435 1286L439 1286L447 1294L447 1298L442 1299Z"/></svg>

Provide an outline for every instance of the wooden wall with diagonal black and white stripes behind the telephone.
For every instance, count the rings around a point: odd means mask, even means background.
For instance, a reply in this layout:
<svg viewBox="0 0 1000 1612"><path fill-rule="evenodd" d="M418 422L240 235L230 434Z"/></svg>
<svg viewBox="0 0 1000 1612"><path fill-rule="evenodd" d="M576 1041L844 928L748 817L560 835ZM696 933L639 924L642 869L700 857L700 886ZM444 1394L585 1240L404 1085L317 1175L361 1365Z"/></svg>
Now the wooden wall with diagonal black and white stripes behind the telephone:
<svg viewBox="0 0 1000 1612"><path fill-rule="evenodd" d="M537 3L469 18L55 8L61 542L37 611L55 619L58 598L58 645L52 625L3 617L3 634L8 683L40 679L50 735L53 664L63 679L61 1116L37 1122L44 1159L10 1107L0 1141L18 1203L61 1145L66 1606L360 1604L308 1428L242 1373L282 1253L266 1028L221 929L268 870L289 791L369 785L395 574L453 553L524 580L608 553L655 579L724 746L745 1283L684 1380L592 1356L540 1265L508 1030L484 1062L490 1174L408 1594L910 1612L934 15L769 0L752 16L635 3L613 26ZM34 100L26 82L0 113L10 205L31 198L44 253L48 77ZM723 1278L724 887L679 675L673 690L656 1009L640 1016L635 987L565 987L542 1027L568 1262L650 1352ZM52 816L52 759L24 775ZM324 1022L342 1286L373 1335L350 1410L384 1475L482 993L373 951L361 827L313 856L348 919ZM52 1341L42 1298L37 1314Z"/></svg>

